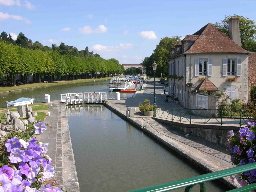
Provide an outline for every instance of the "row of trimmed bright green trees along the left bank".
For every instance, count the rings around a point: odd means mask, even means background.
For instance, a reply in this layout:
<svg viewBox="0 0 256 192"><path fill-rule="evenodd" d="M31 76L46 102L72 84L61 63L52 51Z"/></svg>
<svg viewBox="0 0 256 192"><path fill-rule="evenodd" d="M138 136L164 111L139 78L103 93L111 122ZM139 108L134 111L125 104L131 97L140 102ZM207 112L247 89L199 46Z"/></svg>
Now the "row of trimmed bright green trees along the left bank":
<svg viewBox="0 0 256 192"><path fill-rule="evenodd" d="M54 76L65 80L74 79L74 76L79 79L98 78L97 72L100 72L100 77L105 77L106 73L113 76L123 73L124 67L116 59L60 54L53 49L28 49L0 40L0 74L3 76L6 73L14 86L16 74L28 83L30 74L33 74L34 81L41 82L40 76L48 73L52 82Z"/></svg>

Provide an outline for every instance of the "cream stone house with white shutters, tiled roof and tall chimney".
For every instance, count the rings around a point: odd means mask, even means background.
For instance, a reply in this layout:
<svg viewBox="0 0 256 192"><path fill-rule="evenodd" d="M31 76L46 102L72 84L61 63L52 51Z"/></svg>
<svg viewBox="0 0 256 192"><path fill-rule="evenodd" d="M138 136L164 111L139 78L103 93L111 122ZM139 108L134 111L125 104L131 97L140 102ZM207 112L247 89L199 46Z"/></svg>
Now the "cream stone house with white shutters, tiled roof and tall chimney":
<svg viewBox="0 0 256 192"><path fill-rule="evenodd" d="M239 18L232 17L229 26L230 38L209 23L172 47L169 94L185 108L216 109L217 98L211 94L217 89L247 102L251 52L241 47Z"/></svg>

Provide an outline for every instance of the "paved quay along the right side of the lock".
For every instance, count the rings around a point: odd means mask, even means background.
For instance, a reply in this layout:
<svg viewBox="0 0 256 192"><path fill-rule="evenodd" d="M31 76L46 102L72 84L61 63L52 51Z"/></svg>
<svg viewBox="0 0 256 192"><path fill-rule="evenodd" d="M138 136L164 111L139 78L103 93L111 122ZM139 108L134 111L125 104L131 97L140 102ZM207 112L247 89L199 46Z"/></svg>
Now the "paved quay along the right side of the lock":
<svg viewBox="0 0 256 192"><path fill-rule="evenodd" d="M127 107L136 107L136 109L138 109L138 103L143 102L144 99L149 99L150 103L153 104L154 94L152 94L152 92L154 92L154 79L149 80L143 89L142 91L137 91L131 98L108 100L109 102L105 102L105 106L115 111L123 118L126 118ZM163 85L156 83L156 103L159 107L181 108L179 104L174 102L165 102L163 92ZM204 172L216 172L233 167L226 146L191 135L186 137L185 133L171 126L156 121L151 117L142 116L139 110L135 112L133 118L129 118L129 121L138 128L141 128L143 118L149 121L149 126L147 125L143 129L144 132L148 133ZM230 188L240 187L237 182L232 183L229 177L221 179L221 182L225 183Z"/></svg>

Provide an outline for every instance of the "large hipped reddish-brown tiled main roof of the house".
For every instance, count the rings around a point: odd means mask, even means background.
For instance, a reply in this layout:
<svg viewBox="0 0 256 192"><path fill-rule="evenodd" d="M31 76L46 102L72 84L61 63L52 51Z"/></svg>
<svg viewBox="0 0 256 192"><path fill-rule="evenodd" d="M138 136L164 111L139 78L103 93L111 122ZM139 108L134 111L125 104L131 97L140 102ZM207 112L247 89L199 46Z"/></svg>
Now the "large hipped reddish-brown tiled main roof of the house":
<svg viewBox="0 0 256 192"><path fill-rule="evenodd" d="M250 53L211 23L208 23L194 35L199 35L199 37L184 53Z"/></svg>

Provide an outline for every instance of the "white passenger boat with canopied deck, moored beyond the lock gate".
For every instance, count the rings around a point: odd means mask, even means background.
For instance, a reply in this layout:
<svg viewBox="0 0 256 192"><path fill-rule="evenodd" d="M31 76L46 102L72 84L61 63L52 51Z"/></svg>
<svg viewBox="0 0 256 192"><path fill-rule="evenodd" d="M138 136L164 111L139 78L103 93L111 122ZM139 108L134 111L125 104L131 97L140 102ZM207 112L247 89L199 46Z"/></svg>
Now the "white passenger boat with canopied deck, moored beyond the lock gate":
<svg viewBox="0 0 256 192"><path fill-rule="evenodd" d="M123 90L131 86L130 81L127 78L113 78L109 80L109 91Z"/></svg>

